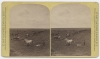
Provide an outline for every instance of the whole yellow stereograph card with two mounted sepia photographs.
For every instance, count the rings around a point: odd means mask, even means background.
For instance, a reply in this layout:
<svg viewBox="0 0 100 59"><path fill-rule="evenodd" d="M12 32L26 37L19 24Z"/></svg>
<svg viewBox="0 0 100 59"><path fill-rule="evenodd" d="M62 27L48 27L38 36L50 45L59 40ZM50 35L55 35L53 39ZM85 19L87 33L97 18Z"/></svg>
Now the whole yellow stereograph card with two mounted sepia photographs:
<svg viewBox="0 0 100 59"><path fill-rule="evenodd" d="M3 2L2 56L98 57L97 2Z"/></svg>

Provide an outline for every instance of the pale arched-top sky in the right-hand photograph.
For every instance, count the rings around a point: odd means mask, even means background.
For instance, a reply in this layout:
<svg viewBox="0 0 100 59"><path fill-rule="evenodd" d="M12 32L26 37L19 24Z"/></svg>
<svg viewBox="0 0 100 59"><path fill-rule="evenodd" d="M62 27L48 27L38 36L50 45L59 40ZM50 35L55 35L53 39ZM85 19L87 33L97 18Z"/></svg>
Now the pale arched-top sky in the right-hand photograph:
<svg viewBox="0 0 100 59"><path fill-rule="evenodd" d="M81 4L61 4L53 7L52 28L90 28L90 9Z"/></svg>

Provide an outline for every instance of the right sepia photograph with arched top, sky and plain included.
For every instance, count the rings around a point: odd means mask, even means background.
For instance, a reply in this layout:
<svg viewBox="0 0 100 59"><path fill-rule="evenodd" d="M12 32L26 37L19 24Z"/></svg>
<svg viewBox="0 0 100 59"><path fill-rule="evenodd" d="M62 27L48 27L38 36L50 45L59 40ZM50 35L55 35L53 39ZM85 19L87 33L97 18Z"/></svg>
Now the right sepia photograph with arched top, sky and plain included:
<svg viewBox="0 0 100 59"><path fill-rule="evenodd" d="M91 10L60 4L51 10L51 56L91 56Z"/></svg>

